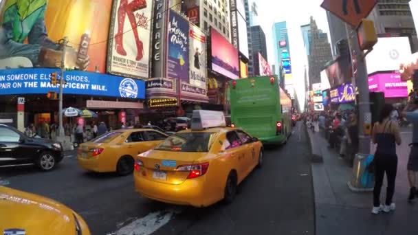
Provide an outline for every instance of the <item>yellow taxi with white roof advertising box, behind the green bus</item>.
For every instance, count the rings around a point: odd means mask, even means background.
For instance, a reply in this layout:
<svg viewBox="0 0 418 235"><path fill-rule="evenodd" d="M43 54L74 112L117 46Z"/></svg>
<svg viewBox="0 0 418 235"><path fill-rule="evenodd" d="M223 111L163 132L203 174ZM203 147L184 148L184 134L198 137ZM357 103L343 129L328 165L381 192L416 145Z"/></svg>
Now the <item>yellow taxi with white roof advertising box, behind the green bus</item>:
<svg viewBox="0 0 418 235"><path fill-rule="evenodd" d="M259 139L226 127L218 111L193 111L191 129L180 131L135 157L135 190L156 201L206 207L230 203L236 188L263 164Z"/></svg>

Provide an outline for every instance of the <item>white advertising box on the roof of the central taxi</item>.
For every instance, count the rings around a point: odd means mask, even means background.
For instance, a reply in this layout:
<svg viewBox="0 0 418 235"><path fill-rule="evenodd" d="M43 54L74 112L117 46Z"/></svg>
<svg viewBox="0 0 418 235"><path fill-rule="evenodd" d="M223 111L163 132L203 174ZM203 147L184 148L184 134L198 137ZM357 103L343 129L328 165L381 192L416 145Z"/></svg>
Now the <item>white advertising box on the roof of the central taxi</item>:
<svg viewBox="0 0 418 235"><path fill-rule="evenodd" d="M221 111L194 110L191 129L201 131L213 127L226 127L225 115Z"/></svg>

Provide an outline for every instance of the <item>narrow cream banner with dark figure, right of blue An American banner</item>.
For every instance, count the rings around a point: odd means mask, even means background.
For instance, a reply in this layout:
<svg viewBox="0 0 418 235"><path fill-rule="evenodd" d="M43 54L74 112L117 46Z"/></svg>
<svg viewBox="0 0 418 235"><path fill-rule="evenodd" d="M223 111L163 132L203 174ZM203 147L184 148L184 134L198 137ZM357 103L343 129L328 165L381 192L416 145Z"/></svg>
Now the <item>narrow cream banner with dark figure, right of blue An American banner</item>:
<svg viewBox="0 0 418 235"><path fill-rule="evenodd" d="M189 83L206 89L206 35L199 27L190 24L189 30Z"/></svg>

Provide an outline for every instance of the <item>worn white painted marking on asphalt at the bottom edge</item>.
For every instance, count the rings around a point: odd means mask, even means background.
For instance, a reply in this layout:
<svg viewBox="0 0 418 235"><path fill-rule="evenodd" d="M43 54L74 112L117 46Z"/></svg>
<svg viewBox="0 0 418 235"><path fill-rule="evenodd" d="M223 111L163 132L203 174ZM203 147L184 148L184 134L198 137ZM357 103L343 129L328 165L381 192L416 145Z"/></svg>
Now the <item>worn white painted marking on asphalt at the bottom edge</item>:
<svg viewBox="0 0 418 235"><path fill-rule="evenodd" d="M141 219L136 219L128 225L121 227L118 231L107 235L148 235L157 231L160 227L166 225L175 214L179 214L181 210L168 209L153 212Z"/></svg>

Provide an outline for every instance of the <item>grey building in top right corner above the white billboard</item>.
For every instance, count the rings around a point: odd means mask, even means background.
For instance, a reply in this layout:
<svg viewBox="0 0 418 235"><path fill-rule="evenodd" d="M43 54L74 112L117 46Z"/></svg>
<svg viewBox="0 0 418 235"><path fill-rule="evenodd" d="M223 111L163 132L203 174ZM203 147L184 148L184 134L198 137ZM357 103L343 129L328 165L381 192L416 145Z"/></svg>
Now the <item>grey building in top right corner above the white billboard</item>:
<svg viewBox="0 0 418 235"><path fill-rule="evenodd" d="M369 19L375 22L377 34L412 36L412 52L417 52L417 31L408 2L408 0L379 0L369 15Z"/></svg>

